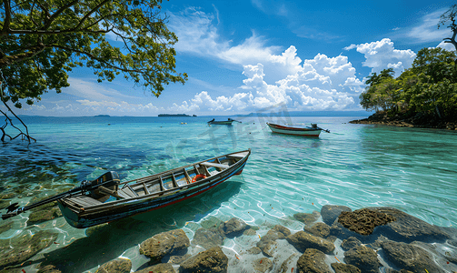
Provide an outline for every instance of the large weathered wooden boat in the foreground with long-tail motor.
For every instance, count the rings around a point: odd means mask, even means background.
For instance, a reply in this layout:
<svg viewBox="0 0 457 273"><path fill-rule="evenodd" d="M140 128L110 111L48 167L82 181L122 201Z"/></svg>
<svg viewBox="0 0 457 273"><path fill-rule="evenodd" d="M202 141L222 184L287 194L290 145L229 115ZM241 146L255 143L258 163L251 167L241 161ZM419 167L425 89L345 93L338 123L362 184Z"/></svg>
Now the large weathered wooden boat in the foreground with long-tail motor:
<svg viewBox="0 0 457 273"><path fill-rule="evenodd" d="M240 175L251 149L213 157L162 173L120 182L115 172L39 203L7 207L2 218L57 200L65 220L72 227L84 228L131 217L198 196L234 175Z"/></svg>

